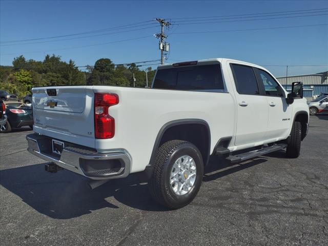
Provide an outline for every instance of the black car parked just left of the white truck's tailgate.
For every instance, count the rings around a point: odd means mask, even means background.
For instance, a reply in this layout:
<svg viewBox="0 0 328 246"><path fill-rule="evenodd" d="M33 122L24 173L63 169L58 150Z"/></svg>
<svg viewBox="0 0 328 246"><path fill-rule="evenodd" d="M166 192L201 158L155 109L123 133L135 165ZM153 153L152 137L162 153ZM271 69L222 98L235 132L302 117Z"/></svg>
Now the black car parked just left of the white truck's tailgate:
<svg viewBox="0 0 328 246"><path fill-rule="evenodd" d="M0 128L1 133L11 132L12 128L29 126L33 129L32 108L22 103L6 104L7 121Z"/></svg>

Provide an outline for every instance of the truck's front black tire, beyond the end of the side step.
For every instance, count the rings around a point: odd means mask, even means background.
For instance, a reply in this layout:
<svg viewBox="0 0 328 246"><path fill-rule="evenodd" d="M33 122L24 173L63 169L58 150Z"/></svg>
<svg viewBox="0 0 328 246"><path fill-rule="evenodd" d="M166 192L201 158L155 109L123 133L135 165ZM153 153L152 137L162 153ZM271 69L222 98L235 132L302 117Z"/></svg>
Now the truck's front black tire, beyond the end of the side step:
<svg viewBox="0 0 328 246"><path fill-rule="evenodd" d="M301 150L302 126L301 122L295 121L291 137L288 141L286 155L290 158L297 158Z"/></svg>

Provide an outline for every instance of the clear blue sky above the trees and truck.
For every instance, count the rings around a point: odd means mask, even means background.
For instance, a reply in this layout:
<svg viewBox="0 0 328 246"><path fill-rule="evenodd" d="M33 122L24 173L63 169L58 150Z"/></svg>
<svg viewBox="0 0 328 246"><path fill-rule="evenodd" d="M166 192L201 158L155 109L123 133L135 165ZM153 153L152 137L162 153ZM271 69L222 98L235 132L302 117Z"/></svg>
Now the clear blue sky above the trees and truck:
<svg viewBox="0 0 328 246"><path fill-rule="evenodd" d="M147 27L147 29L132 32L108 34L110 32L107 31L96 33L101 35L93 37L76 38L81 36L69 36L61 38L66 40L58 40L60 38L41 39L22 42L19 45L5 42L106 29L146 22L156 17L172 18L172 23L178 24L177 21L181 19L177 18L181 17L191 17L188 20L195 20L196 17L203 16L234 15L233 18L236 18L236 16L253 13L324 9L328 8L328 2L1 1L0 7L1 65L11 65L13 58L20 54L23 54L27 59L43 60L45 54L54 53L66 61L73 59L77 66L85 66L94 65L97 59L104 57L110 58L116 64L159 59L158 40L152 36L160 31L159 26L149 25L152 22L148 22L138 24L135 28ZM185 25L181 25L182 23L173 25L170 30L167 30L169 33L167 42L170 43L167 63L180 60L229 57L265 66L276 76L285 75L285 67L268 65L328 64L327 25L233 31L328 24L328 15L242 22L221 21L220 23L193 25L191 22L185 23ZM133 28L128 26L128 29L120 29L119 31L131 29ZM181 34L201 31L224 32ZM138 39L117 42L132 38ZM50 40L56 41L49 42ZM328 70L328 66L289 67L289 74L308 74L324 70Z"/></svg>

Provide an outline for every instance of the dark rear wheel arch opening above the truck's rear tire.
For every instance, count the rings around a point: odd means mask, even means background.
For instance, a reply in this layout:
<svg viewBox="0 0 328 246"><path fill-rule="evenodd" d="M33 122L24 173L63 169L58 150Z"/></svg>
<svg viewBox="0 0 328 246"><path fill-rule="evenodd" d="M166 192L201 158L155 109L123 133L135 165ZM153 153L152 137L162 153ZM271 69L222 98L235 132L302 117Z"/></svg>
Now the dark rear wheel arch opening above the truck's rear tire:
<svg viewBox="0 0 328 246"><path fill-rule="evenodd" d="M150 166L155 160L158 148L164 142L175 139L188 141L195 145L202 155L204 165L207 165L211 149L209 124L202 119L179 119L167 122L159 130L151 154Z"/></svg>

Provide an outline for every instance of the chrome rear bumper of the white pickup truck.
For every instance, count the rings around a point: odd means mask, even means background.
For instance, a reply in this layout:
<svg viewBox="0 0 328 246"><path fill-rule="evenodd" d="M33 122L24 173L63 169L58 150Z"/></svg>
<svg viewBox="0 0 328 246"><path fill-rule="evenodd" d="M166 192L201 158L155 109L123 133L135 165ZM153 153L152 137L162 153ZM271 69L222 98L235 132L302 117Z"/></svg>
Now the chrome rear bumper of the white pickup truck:
<svg viewBox="0 0 328 246"><path fill-rule="evenodd" d="M98 153L93 149L65 142L61 155L52 152L52 138L29 134L28 151L59 167L91 179L124 178L130 173L131 157L126 150L118 149Z"/></svg>

